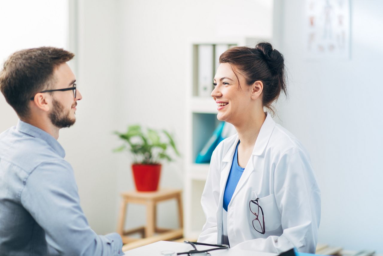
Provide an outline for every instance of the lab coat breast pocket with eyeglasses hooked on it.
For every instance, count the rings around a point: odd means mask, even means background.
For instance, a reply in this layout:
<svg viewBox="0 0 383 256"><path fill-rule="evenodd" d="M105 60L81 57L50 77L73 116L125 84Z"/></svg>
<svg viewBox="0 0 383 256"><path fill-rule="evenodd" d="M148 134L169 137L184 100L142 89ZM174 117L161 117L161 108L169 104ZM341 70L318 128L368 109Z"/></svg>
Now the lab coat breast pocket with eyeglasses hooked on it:
<svg viewBox="0 0 383 256"><path fill-rule="evenodd" d="M253 221L256 216L251 211L249 211L250 225L254 225L254 228L256 230L259 230L262 232L261 226L263 226L263 219L264 219L265 232L273 231L279 228L281 226L282 216L278 210L278 206L277 206L277 202L275 201L274 194L268 195L267 197L259 198L258 204L260 206L259 210L257 208L257 205L253 204L252 207L254 209L252 209L252 211L255 213L258 212L259 221L257 220ZM263 218L262 218L262 213L263 213Z"/></svg>

